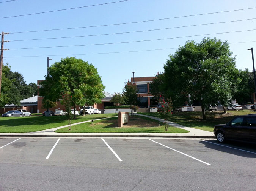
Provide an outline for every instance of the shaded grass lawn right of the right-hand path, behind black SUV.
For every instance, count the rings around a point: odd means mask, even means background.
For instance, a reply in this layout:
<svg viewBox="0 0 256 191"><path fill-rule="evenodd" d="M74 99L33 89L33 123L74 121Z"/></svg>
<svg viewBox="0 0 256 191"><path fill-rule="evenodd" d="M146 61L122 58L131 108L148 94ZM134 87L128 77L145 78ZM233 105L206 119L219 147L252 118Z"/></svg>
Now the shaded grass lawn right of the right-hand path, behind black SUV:
<svg viewBox="0 0 256 191"><path fill-rule="evenodd" d="M229 122L233 117L239 115L248 115L250 113L256 113L254 110L242 110L242 111L228 111L227 114L223 114L223 111L206 111L206 120L202 120L201 111L191 112L177 112L171 116L170 121L192 127L196 129L202 129L212 132L214 125L223 124ZM143 115L149 115L161 118L159 113L138 113Z"/></svg>

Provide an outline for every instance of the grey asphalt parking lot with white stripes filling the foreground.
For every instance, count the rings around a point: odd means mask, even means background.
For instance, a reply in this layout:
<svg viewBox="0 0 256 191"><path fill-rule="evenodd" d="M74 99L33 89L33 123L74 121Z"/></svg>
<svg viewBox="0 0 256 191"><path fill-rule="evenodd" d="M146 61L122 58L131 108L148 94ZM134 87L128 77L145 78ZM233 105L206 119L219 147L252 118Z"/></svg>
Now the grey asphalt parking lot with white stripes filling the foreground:
<svg viewBox="0 0 256 191"><path fill-rule="evenodd" d="M216 140L0 138L0 191L255 190L256 147Z"/></svg>

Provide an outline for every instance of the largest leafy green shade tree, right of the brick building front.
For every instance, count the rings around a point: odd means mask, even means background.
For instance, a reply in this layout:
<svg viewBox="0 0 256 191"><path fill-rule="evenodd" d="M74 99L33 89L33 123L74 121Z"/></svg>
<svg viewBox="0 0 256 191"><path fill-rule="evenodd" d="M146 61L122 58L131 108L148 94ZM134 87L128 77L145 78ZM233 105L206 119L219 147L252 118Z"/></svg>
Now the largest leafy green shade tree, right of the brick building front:
<svg viewBox="0 0 256 191"><path fill-rule="evenodd" d="M165 92L172 102L184 95L187 101L198 100L203 119L206 119L205 108L217 103L219 97L225 97L229 89L226 85L234 79L237 69L228 42L204 37L198 44L193 40L186 42L175 54L169 55L164 71ZM225 87L223 82L226 82ZM233 84L231 92L235 89Z"/></svg>

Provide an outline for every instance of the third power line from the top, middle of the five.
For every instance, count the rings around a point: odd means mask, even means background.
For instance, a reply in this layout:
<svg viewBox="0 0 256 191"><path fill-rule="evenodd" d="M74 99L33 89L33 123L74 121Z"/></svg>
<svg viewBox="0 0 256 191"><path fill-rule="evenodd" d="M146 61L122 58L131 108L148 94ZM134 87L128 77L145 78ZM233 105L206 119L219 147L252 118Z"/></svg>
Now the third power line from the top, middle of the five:
<svg viewBox="0 0 256 191"><path fill-rule="evenodd" d="M177 27L162 28L162 29L150 29L150 30L144 30L144 31L117 32L117 33L109 33L109 34L94 34L94 35L82 35L82 36L70 36L70 37L53 37L53 38L42 38L42 39L23 39L23 40L11 40L10 42L29 41L29 40L66 39L66 38L79 38L79 37L93 37L93 36L104 36L104 35L115 35L115 34L127 34L127 33L135 33L135 32L149 32L149 31L159 31L159 30L184 28L184 27L191 27L191 26L203 26L203 25L212 25L212 24L220 24L220 23L231 23L231 22L239 22L239 21L254 20L254 19L256 19L256 18L248 18L248 19L243 19L243 20L233 20L233 21L216 22L216 23L205 23L205 24L198 24L198 25L177 26Z"/></svg>

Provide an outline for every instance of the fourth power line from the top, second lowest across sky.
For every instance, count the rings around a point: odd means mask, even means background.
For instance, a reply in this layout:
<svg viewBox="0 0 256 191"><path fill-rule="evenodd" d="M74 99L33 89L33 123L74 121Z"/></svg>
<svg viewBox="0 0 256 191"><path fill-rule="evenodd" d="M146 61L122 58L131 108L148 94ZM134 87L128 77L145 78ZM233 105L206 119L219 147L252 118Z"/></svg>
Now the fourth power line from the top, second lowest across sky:
<svg viewBox="0 0 256 191"><path fill-rule="evenodd" d="M12 48L12 49L10 48L9 50L38 49L38 48L60 48L60 47L93 46L93 45L112 45L112 44L121 44L121 43L148 42L148 41L156 41L156 40L179 39L179 38L186 38L186 37L197 37L197 36L205 36L205 35L213 35L213 34L227 34L227 33L233 33L233 32L246 32L246 31L256 31L256 29L244 30L244 31L218 32L218 33L211 33L211 34L198 34L198 35L182 36L182 37L171 37L171 38L164 38L164 39L150 39L150 40L137 40L137 41L128 41L128 42L99 43L99 44L88 44L88 45L46 46L46 47L29 47L29 48Z"/></svg>

